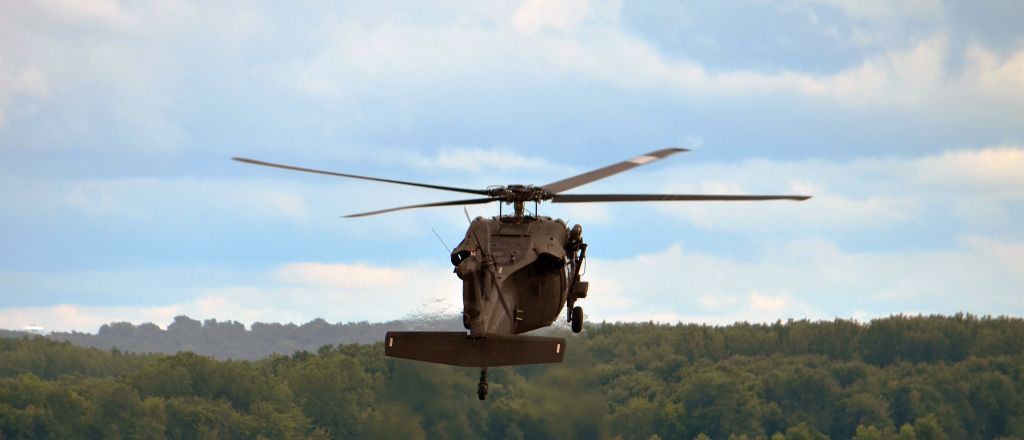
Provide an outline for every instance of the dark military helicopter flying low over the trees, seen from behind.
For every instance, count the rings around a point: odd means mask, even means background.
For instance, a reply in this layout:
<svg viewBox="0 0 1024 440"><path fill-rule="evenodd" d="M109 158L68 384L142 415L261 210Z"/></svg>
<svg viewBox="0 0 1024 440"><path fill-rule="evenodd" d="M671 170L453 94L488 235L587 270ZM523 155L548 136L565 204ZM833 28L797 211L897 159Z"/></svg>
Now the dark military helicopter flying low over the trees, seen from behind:
<svg viewBox="0 0 1024 440"><path fill-rule="evenodd" d="M487 367L560 362L565 339L525 336L523 333L551 325L562 308L572 332L583 329L583 308L588 282L580 279L587 258L583 228L568 228L564 221L537 215L541 202L578 204L592 202L707 202L707 201L805 201L809 195L733 194L566 194L564 191L598 179L646 165L685 148L666 148L628 161L572 176L546 185L505 185L485 189L460 188L377 177L314 170L233 158L247 164L286 170L349 177L379 182L476 194L474 199L389 208L345 217L365 217L414 208L479 205L500 202L499 215L472 220L466 236L452 251L455 273L463 281L465 332L388 332L386 356L480 368L477 395L487 394ZM526 212L532 203L535 212ZM501 206L511 205L503 214ZM468 217L468 214L467 214Z"/></svg>

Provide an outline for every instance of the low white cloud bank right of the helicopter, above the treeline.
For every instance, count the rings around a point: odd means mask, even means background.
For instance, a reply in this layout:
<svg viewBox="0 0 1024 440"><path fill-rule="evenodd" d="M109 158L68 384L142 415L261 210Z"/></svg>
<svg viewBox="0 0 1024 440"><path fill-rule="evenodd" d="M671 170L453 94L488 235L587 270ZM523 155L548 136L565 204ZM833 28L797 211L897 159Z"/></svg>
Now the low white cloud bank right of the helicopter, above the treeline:
<svg viewBox="0 0 1024 440"><path fill-rule="evenodd" d="M847 252L821 240L734 259L676 245L621 260L592 259L580 304L596 320L767 322L865 319L915 309L1024 313L1021 244L970 237L953 249Z"/></svg>

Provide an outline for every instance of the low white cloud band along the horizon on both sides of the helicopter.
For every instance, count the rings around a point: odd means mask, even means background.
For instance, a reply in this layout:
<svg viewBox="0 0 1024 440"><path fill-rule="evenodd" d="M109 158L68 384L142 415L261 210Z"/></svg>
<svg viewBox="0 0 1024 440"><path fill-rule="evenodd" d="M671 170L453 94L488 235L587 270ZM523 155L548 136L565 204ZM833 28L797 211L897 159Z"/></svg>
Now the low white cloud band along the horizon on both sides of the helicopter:
<svg viewBox="0 0 1024 440"><path fill-rule="evenodd" d="M751 251L742 257L725 257L672 245L622 259L591 257L586 277L591 292L580 304L593 320L715 324L791 317L866 319L906 310L1024 313L1019 293L1019 285L1024 285L1021 241L968 235L945 249L847 251L824 239L800 238ZM185 278L173 274L135 276L139 279L128 279L127 284L116 275L94 273L70 281L92 290L96 285L137 290L136 284L145 283L142 278L169 280L163 289L178 292L183 300L137 307L4 308L0 326L94 331L114 320L166 324L177 314L245 323L304 322L315 317L380 321L461 310L460 281L443 263L299 262L219 280L207 274L187 287L176 287L182 281L174 279ZM40 276L51 283L56 279L53 274ZM4 279L16 282L11 276ZM62 288L57 283L53 289Z"/></svg>

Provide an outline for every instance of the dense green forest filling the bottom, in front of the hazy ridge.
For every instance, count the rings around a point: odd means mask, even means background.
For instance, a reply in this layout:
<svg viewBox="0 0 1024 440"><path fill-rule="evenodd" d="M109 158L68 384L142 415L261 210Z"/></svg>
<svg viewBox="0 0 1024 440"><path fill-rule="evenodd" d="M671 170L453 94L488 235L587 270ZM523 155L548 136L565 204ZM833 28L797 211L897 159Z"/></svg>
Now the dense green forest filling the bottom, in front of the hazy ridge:
<svg viewBox="0 0 1024 440"><path fill-rule="evenodd" d="M1024 438L1024 321L590 324L477 371L381 344L258 361L0 340L0 438Z"/></svg>

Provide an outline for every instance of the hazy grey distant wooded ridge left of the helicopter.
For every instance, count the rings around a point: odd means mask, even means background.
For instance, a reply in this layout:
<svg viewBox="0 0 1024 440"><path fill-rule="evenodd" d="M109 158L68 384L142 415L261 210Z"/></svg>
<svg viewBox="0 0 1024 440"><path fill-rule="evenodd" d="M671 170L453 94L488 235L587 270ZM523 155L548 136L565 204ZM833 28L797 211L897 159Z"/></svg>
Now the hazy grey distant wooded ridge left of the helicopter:
<svg viewBox="0 0 1024 440"><path fill-rule="evenodd" d="M329 323L314 319L302 325L255 322L250 328L238 321L199 321L177 316L163 329L154 323L103 324L95 335L51 333L49 338L82 347L103 350L117 348L133 353L190 351L218 359L261 359L271 354L313 351L328 344L373 344L388 331L462 329L462 321L452 316L419 317L381 323ZM3 335L0 334L0 337Z"/></svg>

